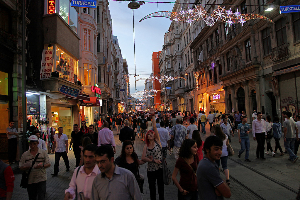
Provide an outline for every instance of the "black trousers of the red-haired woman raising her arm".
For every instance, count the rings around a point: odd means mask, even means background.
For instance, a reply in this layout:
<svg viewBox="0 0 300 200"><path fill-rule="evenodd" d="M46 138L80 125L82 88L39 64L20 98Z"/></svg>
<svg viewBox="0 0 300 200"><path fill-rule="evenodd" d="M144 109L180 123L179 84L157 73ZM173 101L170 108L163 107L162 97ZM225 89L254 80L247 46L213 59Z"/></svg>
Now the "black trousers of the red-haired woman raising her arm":
<svg viewBox="0 0 300 200"><path fill-rule="evenodd" d="M157 181L157 188L158 188L158 196L159 200L164 200L164 179L163 179L163 169L158 169L153 172L147 171L147 177L148 177L148 184L149 184L149 190L150 190L150 199L155 200L156 199L156 184L155 181Z"/></svg>

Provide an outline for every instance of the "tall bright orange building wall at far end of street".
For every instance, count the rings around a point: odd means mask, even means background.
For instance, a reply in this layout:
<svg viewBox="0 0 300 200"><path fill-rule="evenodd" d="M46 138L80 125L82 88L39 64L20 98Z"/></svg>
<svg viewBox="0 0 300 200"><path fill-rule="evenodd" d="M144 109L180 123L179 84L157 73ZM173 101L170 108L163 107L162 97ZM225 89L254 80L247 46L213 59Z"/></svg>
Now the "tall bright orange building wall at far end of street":
<svg viewBox="0 0 300 200"><path fill-rule="evenodd" d="M153 52L152 53L152 74L153 76L160 77L160 71L159 71L159 55L161 54L161 51L159 52ZM158 81L153 82L153 89L160 90L161 89L161 83ZM156 96L154 96L154 107L155 109L159 109L161 106L161 91L158 91L156 93Z"/></svg>

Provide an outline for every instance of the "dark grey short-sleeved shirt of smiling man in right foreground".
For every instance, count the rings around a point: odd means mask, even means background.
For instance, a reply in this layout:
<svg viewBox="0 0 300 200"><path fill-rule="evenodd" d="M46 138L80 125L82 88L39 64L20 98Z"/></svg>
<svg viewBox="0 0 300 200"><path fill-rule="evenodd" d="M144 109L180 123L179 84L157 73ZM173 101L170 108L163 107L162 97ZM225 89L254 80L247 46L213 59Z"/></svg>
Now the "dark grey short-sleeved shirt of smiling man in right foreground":
<svg viewBox="0 0 300 200"><path fill-rule="evenodd" d="M215 192L215 188L223 182L215 162L207 157L200 160L197 169L199 199L224 199L223 196L217 196Z"/></svg>

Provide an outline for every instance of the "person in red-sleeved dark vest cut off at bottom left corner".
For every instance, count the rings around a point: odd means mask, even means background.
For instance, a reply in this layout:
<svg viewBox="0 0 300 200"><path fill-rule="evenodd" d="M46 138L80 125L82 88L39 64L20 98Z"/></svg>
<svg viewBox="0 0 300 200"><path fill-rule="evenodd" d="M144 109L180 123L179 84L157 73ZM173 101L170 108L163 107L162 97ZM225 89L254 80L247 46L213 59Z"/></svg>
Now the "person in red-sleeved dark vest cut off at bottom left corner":
<svg viewBox="0 0 300 200"><path fill-rule="evenodd" d="M14 180L13 170L0 159L0 199L11 200Z"/></svg>

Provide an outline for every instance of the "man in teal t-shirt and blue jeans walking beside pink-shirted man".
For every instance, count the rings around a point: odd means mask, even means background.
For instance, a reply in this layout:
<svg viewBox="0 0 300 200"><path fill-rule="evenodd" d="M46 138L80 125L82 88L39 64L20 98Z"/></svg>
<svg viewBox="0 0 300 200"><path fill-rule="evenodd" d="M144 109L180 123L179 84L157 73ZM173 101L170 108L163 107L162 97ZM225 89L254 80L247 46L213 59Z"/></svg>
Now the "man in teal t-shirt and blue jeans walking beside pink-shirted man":
<svg viewBox="0 0 300 200"><path fill-rule="evenodd" d="M250 152L250 126L246 123L247 118L242 118L242 123L238 124L238 142L241 143L241 149L238 151L238 157L241 157L241 154L246 150L245 161L251 162L249 160L249 152Z"/></svg>

